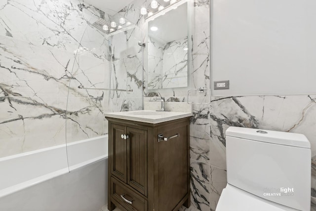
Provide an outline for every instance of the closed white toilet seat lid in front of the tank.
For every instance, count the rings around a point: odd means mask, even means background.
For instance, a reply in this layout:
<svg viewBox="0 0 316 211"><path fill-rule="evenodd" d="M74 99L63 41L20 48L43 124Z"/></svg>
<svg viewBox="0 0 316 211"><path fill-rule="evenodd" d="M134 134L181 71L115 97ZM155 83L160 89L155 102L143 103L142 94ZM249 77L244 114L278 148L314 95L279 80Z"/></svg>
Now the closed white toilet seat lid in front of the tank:
<svg viewBox="0 0 316 211"><path fill-rule="evenodd" d="M216 211L297 211L262 199L227 184L218 201Z"/></svg>

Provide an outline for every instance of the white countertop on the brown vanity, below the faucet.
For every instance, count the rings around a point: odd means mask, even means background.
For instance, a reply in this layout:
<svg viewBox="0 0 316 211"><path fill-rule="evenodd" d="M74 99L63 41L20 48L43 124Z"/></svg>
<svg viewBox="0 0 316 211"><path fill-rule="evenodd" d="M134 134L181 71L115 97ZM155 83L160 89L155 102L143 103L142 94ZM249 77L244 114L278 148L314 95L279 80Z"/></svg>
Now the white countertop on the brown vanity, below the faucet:
<svg viewBox="0 0 316 211"><path fill-rule="evenodd" d="M138 111L122 111L122 112L109 112L104 113L104 116L131 120L143 123L163 123L171 120L177 120L185 117L191 117L192 113L187 112L173 112L173 111L152 111L152 110L138 110Z"/></svg>

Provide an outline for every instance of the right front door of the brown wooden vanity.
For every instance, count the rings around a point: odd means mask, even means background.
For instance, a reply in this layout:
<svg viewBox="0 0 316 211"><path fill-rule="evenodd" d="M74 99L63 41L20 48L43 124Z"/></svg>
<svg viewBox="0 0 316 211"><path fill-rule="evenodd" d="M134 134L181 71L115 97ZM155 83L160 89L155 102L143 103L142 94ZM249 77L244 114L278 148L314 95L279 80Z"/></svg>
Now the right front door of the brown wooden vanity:
<svg viewBox="0 0 316 211"><path fill-rule="evenodd" d="M147 130L127 127L127 184L147 196Z"/></svg>

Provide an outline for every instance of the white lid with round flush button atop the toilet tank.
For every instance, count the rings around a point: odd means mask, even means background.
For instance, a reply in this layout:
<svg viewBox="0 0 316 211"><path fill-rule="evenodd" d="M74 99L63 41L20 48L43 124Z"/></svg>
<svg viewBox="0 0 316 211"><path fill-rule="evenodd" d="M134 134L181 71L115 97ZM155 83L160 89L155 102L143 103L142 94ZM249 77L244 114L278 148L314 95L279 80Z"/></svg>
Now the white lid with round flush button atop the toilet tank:
<svg viewBox="0 0 316 211"><path fill-rule="evenodd" d="M294 147L311 148L310 141L305 135L292 132L280 132L246 127L229 127L226 130L226 136Z"/></svg>

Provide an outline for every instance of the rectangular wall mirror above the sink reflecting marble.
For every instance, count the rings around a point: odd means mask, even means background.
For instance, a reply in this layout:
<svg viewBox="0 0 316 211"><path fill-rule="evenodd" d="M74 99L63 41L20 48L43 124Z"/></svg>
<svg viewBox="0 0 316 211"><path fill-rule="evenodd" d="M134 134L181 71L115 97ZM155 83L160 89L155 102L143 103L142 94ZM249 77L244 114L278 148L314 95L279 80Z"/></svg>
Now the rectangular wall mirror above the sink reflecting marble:
<svg viewBox="0 0 316 211"><path fill-rule="evenodd" d="M146 22L147 88L188 86L188 3L171 5Z"/></svg>

